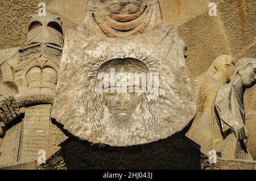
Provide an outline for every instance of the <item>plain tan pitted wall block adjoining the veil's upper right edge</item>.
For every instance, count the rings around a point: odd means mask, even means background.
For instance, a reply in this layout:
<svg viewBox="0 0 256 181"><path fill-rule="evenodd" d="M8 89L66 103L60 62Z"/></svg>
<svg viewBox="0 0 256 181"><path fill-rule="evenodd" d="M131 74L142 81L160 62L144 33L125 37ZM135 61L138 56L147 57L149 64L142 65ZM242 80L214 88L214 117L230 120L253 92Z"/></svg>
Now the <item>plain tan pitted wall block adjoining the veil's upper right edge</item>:
<svg viewBox="0 0 256 181"><path fill-rule="evenodd" d="M186 64L192 81L207 71L217 56L231 54L221 29L218 16L211 17L208 11L178 27L179 35L188 47Z"/></svg>

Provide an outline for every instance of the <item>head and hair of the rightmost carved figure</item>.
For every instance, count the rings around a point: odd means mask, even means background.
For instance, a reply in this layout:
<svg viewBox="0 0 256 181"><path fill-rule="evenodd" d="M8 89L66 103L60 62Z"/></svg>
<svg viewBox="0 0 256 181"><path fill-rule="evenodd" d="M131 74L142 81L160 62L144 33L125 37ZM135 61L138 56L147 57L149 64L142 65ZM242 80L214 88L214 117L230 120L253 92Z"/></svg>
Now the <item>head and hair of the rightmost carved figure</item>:
<svg viewBox="0 0 256 181"><path fill-rule="evenodd" d="M240 75L244 87L251 87L256 83L256 59L242 58L237 62L236 75Z"/></svg>

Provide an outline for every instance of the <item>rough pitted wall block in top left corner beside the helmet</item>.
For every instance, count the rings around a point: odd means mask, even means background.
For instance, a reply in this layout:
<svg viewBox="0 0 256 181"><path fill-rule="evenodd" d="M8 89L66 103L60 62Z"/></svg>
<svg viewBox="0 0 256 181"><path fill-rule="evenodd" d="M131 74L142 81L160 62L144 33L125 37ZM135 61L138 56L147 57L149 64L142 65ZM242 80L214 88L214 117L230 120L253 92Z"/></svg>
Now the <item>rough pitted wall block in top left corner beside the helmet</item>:
<svg viewBox="0 0 256 181"><path fill-rule="evenodd" d="M38 12L40 0L30 1L1 1L0 22L0 49L24 47L26 44L27 25L30 15ZM49 0L44 1L49 3Z"/></svg>

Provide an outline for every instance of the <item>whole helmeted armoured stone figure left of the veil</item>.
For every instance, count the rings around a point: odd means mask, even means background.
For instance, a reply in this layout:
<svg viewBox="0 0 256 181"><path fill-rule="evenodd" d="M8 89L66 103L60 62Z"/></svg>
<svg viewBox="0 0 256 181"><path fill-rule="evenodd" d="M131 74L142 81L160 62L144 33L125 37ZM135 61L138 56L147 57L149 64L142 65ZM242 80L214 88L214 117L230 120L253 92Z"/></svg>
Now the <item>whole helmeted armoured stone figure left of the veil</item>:
<svg viewBox="0 0 256 181"><path fill-rule="evenodd" d="M65 140L50 117L62 48L61 20L47 13L31 16L26 47L2 51L7 58L1 64L1 165L34 161L39 150Z"/></svg>

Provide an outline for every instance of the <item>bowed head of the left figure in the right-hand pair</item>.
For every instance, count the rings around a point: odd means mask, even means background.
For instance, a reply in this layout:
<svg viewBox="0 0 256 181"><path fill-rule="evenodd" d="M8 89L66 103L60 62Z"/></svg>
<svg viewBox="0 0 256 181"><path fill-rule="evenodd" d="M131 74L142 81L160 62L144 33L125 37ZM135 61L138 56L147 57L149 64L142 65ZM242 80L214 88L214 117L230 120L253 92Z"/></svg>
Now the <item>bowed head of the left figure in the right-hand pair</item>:
<svg viewBox="0 0 256 181"><path fill-rule="evenodd" d="M229 83L234 72L235 61L230 55L218 56L207 71L207 75L216 79L222 85Z"/></svg>

